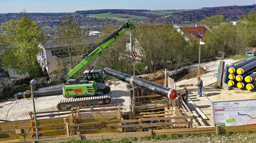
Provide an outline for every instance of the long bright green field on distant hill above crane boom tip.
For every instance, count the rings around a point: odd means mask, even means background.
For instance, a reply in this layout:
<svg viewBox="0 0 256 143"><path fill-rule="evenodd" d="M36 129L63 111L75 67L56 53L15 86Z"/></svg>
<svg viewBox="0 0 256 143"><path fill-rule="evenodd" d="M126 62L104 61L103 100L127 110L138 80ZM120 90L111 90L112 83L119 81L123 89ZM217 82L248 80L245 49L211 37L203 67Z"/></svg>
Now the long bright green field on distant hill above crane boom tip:
<svg viewBox="0 0 256 143"><path fill-rule="evenodd" d="M125 20L125 19L144 19L144 16L135 16L128 14L112 14L110 12L104 14L89 14L89 18L110 18L117 20Z"/></svg>

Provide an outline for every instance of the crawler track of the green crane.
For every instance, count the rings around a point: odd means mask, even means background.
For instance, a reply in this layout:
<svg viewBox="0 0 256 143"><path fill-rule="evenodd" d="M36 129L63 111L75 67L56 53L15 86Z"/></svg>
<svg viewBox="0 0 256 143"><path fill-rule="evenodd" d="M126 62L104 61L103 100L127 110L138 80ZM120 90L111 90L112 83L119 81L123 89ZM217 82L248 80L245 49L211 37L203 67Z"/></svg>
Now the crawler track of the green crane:
<svg viewBox="0 0 256 143"><path fill-rule="evenodd" d="M110 104L111 96L106 94L102 96L89 96L84 98L64 99L57 103L57 109L71 109L71 107L84 107L90 105Z"/></svg>

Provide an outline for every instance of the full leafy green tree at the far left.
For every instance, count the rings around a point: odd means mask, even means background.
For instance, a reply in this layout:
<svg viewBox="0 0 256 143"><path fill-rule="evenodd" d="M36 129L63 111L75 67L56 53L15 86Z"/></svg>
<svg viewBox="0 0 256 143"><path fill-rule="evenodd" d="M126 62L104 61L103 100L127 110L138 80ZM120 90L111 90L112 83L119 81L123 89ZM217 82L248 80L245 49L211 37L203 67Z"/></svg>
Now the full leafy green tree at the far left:
<svg viewBox="0 0 256 143"><path fill-rule="evenodd" d="M42 41L42 33L35 21L24 16L18 21L11 19L1 25L2 44L5 49L3 64L18 73L29 73L30 77L38 77L41 69L37 62L38 45Z"/></svg>

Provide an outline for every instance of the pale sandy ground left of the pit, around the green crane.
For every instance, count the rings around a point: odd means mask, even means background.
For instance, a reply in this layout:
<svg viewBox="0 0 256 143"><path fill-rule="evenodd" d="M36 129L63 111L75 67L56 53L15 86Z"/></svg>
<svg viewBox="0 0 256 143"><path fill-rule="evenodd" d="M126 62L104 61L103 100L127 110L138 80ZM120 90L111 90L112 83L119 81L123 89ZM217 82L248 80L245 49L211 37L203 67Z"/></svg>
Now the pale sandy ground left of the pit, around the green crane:
<svg viewBox="0 0 256 143"><path fill-rule="evenodd" d="M127 84L122 81L117 81L119 85L111 85L110 96L112 104L122 104L123 112L130 110L131 99L127 92ZM63 96L46 96L35 99L35 109L37 112L57 110L57 103L65 99ZM33 111L32 99L18 99L0 105L0 120L25 120L29 119L29 112Z"/></svg>

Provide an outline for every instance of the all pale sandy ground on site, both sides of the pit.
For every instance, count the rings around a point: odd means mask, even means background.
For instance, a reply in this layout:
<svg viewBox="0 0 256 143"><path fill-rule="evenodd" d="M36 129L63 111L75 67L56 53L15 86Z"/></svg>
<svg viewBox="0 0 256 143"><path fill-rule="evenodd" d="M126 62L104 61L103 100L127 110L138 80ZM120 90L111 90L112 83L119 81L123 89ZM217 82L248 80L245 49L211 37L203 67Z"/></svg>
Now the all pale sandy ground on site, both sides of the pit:
<svg viewBox="0 0 256 143"><path fill-rule="evenodd" d="M185 79L177 83L177 90L182 91L183 87L179 85L191 85L187 86L189 90L189 98L204 112L204 114L209 118L209 125L213 125L212 117L212 102L214 101L231 101L231 100L244 100L244 99L256 99L255 92L249 92L248 90L240 89L216 89L212 88L210 85L217 82L217 68L219 66L219 61L212 61L202 63L200 66L209 72L200 75L202 81L204 82L204 88L202 89L203 97L199 98L198 88L195 86L197 84L196 77L191 79ZM225 59L225 62L236 62L232 59ZM197 68L198 64L189 66L189 68ZM122 104L123 112L128 112L131 106L131 98L129 95L129 90L127 88L127 83L122 81L116 81L118 85L110 85L112 96L112 104ZM36 110L40 111L50 111L57 110L56 105L61 100L65 99L63 96L48 96L35 99ZM29 119L29 112L33 110L33 104L31 100L19 99L16 101L11 101L0 105L0 120L24 120Z"/></svg>

